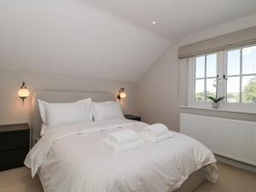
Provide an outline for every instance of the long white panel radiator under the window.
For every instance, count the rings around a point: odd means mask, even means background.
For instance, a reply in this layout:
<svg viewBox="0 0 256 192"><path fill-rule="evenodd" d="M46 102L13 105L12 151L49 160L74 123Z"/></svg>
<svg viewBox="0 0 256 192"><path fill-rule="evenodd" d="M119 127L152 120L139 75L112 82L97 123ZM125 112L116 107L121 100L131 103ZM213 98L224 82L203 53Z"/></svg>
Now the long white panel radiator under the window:
<svg viewBox="0 0 256 192"><path fill-rule="evenodd" d="M214 154L256 166L256 122L181 113L180 131Z"/></svg>

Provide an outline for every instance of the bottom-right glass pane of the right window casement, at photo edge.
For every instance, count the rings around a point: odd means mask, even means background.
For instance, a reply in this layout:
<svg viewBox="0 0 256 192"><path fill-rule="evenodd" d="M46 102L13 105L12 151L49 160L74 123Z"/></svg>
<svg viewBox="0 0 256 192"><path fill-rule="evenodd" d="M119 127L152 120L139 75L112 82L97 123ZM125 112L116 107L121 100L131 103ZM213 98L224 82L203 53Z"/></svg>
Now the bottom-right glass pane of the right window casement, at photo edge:
<svg viewBox="0 0 256 192"><path fill-rule="evenodd" d="M241 102L256 102L256 76L243 76Z"/></svg>

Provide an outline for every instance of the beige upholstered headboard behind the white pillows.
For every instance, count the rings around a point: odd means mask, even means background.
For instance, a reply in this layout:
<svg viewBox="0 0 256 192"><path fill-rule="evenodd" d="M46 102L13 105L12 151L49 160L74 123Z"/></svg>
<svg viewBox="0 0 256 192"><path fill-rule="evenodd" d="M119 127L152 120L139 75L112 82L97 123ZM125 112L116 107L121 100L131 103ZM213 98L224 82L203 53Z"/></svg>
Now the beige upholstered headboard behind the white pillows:
<svg viewBox="0 0 256 192"><path fill-rule="evenodd" d="M32 96L32 121L31 121L31 147L37 143L40 136L42 119L38 108L38 99L45 102L76 102L90 97L94 102L113 101L114 96L110 93L94 92L61 92L61 91L42 91L34 93Z"/></svg>

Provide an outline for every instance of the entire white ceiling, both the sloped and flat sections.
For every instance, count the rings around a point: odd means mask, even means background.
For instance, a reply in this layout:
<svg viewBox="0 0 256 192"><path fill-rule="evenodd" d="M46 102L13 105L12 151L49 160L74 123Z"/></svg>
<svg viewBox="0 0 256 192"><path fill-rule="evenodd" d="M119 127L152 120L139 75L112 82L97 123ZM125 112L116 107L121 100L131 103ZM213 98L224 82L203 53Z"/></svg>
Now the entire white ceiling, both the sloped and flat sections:
<svg viewBox="0 0 256 192"><path fill-rule="evenodd" d="M255 10L255 0L2 0L0 67L137 81L172 41Z"/></svg>

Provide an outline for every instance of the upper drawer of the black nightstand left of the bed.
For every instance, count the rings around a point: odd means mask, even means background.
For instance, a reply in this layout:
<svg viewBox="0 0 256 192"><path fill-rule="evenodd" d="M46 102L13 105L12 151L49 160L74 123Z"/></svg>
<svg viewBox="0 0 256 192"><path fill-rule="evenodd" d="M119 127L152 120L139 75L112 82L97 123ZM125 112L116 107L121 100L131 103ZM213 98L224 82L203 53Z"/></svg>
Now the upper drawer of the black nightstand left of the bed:
<svg viewBox="0 0 256 192"><path fill-rule="evenodd" d="M0 153L11 149L28 147L29 130L7 131L0 133Z"/></svg>

